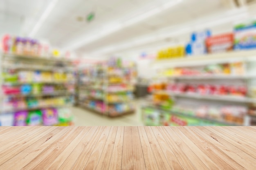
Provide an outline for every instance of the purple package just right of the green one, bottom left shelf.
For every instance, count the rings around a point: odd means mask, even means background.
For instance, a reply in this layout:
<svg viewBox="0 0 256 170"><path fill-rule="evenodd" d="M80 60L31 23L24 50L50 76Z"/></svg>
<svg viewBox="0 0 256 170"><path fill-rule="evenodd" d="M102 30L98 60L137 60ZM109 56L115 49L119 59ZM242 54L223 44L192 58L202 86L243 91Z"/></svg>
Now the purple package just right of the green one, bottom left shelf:
<svg viewBox="0 0 256 170"><path fill-rule="evenodd" d="M45 126L52 126L58 123L58 112L56 108L46 108L43 112L43 124Z"/></svg>

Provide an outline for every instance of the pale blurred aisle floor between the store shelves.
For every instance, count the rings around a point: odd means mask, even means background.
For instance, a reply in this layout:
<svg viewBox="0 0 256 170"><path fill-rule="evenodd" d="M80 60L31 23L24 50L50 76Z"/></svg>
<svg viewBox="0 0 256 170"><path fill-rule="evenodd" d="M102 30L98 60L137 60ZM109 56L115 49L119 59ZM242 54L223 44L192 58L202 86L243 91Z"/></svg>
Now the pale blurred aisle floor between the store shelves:
<svg viewBox="0 0 256 170"><path fill-rule="evenodd" d="M75 126L143 126L140 110L140 101L136 101L135 113L120 117L107 117L90 110L72 107Z"/></svg>

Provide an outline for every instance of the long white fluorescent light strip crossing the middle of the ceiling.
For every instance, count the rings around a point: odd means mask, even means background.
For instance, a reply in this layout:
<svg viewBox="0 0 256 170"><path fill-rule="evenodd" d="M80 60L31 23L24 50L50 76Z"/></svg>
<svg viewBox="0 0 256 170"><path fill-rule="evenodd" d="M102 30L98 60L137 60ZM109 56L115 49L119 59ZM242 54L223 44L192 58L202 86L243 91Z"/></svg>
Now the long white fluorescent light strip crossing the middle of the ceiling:
<svg viewBox="0 0 256 170"><path fill-rule="evenodd" d="M127 26L131 26L133 24L136 24L138 22L141 22L142 20L145 20L153 15L156 15L157 13L163 12L166 9L169 9L170 7L175 6L176 4L182 2L182 0L172 0L171 2L167 2L165 4L163 4L162 6L159 6L157 8L154 8L146 13L143 13L141 15L138 15L126 22L121 22L121 23L116 23L113 25L108 26L108 28L103 28L102 31L99 31L100 33L94 36L86 36L84 38L81 38L81 41L76 42L76 43L72 43L69 47L67 47L66 49L69 50L76 50L86 44L89 44L90 42L93 42L95 40L98 40L100 38L103 38L106 35L109 35L111 33L114 33L120 29L124 29Z"/></svg>

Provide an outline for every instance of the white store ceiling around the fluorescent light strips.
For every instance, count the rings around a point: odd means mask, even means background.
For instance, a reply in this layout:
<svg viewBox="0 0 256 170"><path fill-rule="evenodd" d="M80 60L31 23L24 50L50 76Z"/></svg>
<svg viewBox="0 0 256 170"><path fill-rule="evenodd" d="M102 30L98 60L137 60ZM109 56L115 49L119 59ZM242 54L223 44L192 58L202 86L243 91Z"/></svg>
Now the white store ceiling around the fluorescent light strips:
<svg viewBox="0 0 256 170"><path fill-rule="evenodd" d="M111 28L112 24L136 18L169 1L172 0L58 0L36 31L35 37L47 39L53 46L68 48L79 41L87 40L87 38L89 40L90 37L106 31L109 27ZM0 35L3 33L29 35L51 2L52 0L0 0ZM185 23L217 16L230 10L230 5L224 5L227 2L231 0L182 0L177 5L139 23L88 41L79 46L76 51L95 53L118 44L127 44L137 38L155 35L159 32L168 33L172 27L184 26ZM95 13L92 22L76 20L78 16L85 17L90 12ZM225 28L227 27L226 25ZM218 27L216 30L220 31L221 28ZM188 40L188 36L188 33L184 33L182 36L171 37L168 40L155 40L122 50L112 48L108 54L156 46L156 44L182 42Z"/></svg>

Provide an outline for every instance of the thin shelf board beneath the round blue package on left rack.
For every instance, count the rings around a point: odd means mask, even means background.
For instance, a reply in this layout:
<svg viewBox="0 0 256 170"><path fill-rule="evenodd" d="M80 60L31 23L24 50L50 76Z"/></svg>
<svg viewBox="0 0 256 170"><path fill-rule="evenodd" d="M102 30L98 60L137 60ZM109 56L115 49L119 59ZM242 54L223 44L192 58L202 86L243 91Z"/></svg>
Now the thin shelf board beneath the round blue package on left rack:
<svg viewBox="0 0 256 170"><path fill-rule="evenodd" d="M51 93L43 93L43 94L4 94L7 97L44 97L44 96L64 96L64 95L73 95L74 92L67 91L54 91Z"/></svg>

